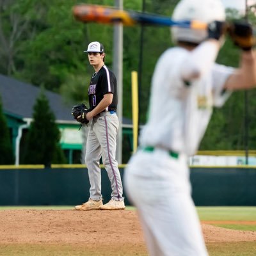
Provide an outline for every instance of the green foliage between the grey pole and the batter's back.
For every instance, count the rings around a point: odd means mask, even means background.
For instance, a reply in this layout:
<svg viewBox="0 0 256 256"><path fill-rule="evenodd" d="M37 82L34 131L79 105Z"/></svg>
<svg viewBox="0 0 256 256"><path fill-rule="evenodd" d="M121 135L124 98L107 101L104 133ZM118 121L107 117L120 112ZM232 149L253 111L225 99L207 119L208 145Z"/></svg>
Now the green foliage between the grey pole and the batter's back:
<svg viewBox="0 0 256 256"><path fill-rule="evenodd" d="M145 1L145 12L171 16L178 1ZM142 10L141 3L141 10ZM138 8L136 6L136 8ZM134 9L138 10L138 9ZM143 40L141 45L141 39ZM151 78L159 56L172 46L170 28L154 26L124 29L124 109L123 114L131 116L131 71L138 71L140 123L146 121L148 99L150 98ZM141 56L141 60L140 59ZM141 70L140 70L141 65Z"/></svg>

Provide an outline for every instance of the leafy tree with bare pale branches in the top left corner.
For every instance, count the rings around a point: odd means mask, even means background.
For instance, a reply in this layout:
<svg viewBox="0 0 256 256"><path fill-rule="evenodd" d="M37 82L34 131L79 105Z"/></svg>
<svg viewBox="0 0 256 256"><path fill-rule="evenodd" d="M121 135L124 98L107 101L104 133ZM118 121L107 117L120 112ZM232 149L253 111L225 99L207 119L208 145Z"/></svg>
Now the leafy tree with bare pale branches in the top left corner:
<svg viewBox="0 0 256 256"><path fill-rule="evenodd" d="M40 1L42 4L43 1ZM22 43L29 42L36 31L44 28L40 17L42 8L35 6L36 0L0 1L0 72L8 76L19 70L17 56L23 51ZM37 17L38 22L33 19ZM34 19L35 20L35 19Z"/></svg>

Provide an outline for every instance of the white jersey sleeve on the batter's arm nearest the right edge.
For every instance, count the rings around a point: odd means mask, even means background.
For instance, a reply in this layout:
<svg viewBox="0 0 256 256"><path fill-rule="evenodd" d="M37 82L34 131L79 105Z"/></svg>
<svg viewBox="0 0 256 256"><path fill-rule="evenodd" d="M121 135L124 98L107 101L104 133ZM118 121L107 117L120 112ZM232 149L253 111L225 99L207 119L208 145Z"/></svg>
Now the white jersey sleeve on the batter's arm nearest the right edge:
<svg viewBox="0 0 256 256"><path fill-rule="evenodd" d="M225 83L229 76L235 71L235 68L226 67L224 65L215 64L212 68L212 90L213 90L213 104L220 108L230 97L232 91L224 90Z"/></svg>

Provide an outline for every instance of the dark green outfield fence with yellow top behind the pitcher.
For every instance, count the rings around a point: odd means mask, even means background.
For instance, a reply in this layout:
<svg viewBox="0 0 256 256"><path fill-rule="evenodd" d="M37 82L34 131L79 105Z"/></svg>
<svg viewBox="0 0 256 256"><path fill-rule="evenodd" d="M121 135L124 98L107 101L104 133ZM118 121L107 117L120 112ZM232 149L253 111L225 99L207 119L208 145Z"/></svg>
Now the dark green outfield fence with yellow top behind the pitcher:
<svg viewBox="0 0 256 256"><path fill-rule="evenodd" d="M101 167L102 196L108 202L110 183ZM124 167L119 166L122 179ZM197 206L256 205L256 166L191 167L191 184ZM77 205L88 199L89 188L81 164L0 166L0 205ZM125 204L130 205L127 196Z"/></svg>

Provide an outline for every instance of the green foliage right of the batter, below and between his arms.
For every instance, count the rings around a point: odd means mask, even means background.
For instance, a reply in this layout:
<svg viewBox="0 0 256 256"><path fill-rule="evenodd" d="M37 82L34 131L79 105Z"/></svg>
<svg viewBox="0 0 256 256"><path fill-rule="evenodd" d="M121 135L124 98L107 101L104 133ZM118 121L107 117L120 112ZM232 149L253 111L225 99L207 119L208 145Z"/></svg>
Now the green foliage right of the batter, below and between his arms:
<svg viewBox="0 0 256 256"><path fill-rule="evenodd" d="M234 46L230 38L226 38L221 48L217 62L230 67L239 67L240 50ZM256 148L256 121L255 106L256 90L248 93L248 147ZM246 106L245 92L233 92L226 104L221 109L214 109L212 119L200 145L200 150L243 150L245 143Z"/></svg>

